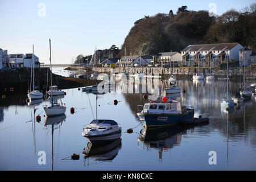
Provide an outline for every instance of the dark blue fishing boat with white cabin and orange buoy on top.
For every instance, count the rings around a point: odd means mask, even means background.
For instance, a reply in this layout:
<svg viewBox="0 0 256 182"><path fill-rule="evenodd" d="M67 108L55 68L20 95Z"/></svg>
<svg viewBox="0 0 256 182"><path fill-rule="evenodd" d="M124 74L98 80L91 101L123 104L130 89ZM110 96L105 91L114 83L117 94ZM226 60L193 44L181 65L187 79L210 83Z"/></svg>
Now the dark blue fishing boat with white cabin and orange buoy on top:
<svg viewBox="0 0 256 182"><path fill-rule="evenodd" d="M181 106L180 101L167 101L158 98L144 104L143 110L137 113L143 125L147 127L159 127L176 125L181 120L194 117L194 109Z"/></svg>

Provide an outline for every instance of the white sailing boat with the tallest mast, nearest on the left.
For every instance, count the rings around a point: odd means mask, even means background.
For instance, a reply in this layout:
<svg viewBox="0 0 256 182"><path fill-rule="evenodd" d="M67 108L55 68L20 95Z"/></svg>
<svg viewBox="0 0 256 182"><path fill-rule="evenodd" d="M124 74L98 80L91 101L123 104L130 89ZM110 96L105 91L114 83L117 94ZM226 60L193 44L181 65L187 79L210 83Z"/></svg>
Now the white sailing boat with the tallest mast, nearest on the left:
<svg viewBox="0 0 256 182"><path fill-rule="evenodd" d="M51 57L51 39L49 39L49 49L50 49L50 65L51 65L51 92L52 92L52 57ZM62 102L61 105L57 104L57 101L53 104L53 98L51 95L52 105L51 106L44 106L44 111L48 117L53 117L56 115L62 115L66 111L66 107L63 106Z"/></svg>

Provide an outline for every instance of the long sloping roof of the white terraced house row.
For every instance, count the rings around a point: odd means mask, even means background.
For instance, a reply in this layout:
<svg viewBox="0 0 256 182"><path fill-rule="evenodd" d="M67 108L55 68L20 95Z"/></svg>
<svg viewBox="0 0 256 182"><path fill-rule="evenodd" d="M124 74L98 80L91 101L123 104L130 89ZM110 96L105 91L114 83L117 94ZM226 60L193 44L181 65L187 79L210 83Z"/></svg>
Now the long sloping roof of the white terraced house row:
<svg viewBox="0 0 256 182"><path fill-rule="evenodd" d="M222 49L232 49L233 47L237 46L239 43L223 43L223 44L195 44L189 45L188 47L184 48L182 51L208 51L210 49L213 50L222 50Z"/></svg>

